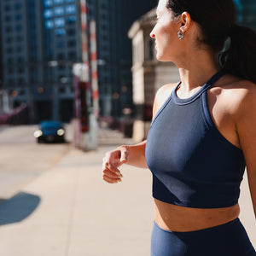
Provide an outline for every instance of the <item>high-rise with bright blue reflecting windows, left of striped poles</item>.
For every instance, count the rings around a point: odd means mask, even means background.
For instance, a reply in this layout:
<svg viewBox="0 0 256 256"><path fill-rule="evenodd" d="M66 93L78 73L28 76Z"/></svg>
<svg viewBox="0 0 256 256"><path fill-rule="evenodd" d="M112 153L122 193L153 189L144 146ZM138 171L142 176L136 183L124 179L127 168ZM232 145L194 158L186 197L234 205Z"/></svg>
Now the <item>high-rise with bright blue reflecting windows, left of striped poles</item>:
<svg viewBox="0 0 256 256"><path fill-rule="evenodd" d="M81 61L79 0L2 0L3 89L33 121L73 116L74 62Z"/></svg>

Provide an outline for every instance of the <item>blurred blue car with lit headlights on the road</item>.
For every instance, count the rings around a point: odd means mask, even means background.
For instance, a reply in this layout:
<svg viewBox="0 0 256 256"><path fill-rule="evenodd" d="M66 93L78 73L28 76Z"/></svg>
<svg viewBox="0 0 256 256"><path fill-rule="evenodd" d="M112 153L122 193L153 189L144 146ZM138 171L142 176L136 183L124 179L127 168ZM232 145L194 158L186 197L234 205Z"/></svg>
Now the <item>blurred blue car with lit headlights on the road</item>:
<svg viewBox="0 0 256 256"><path fill-rule="evenodd" d="M65 128L58 121L43 121L39 124L38 131L34 132L38 143L64 143Z"/></svg>

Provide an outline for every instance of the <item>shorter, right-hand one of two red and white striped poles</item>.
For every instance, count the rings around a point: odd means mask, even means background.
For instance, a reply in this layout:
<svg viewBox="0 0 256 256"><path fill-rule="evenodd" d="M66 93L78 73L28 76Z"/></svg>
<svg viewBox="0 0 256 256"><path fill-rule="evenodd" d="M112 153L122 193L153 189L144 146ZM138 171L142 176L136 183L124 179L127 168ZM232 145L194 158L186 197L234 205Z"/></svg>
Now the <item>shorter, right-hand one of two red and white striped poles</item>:
<svg viewBox="0 0 256 256"><path fill-rule="evenodd" d="M93 111L99 115L99 90L97 75L97 53L96 53L96 21L90 20L90 67L91 67L91 90Z"/></svg>

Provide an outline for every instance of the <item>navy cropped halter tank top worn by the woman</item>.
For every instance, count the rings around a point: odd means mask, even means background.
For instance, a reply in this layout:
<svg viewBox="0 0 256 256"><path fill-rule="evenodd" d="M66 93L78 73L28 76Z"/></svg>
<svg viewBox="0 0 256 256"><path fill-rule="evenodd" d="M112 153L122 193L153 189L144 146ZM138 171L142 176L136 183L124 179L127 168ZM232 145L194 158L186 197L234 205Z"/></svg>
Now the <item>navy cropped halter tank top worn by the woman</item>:
<svg viewBox="0 0 256 256"><path fill-rule="evenodd" d="M177 84L156 113L145 151L155 199L195 208L237 203L244 156L218 131L207 108L207 89L223 74L187 99L177 97Z"/></svg>

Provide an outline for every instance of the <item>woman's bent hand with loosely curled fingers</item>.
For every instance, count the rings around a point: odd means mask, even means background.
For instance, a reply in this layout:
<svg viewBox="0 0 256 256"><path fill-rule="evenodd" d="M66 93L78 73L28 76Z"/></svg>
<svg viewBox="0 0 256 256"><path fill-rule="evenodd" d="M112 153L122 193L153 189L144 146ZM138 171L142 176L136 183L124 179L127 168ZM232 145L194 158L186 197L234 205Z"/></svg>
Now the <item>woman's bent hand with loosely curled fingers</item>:
<svg viewBox="0 0 256 256"><path fill-rule="evenodd" d="M119 183L123 175L119 171L119 166L128 161L128 148L120 146L112 151L108 151L103 158L102 178L108 183Z"/></svg>

